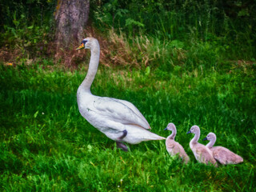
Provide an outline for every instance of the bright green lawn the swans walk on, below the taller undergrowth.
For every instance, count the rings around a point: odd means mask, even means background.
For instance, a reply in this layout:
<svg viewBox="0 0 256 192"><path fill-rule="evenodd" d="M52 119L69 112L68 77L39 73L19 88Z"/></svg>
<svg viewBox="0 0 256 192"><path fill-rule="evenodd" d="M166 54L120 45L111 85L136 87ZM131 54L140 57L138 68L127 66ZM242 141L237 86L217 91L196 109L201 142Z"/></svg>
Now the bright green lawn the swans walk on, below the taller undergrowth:
<svg viewBox="0 0 256 192"><path fill-rule="evenodd" d="M99 66L92 92L133 102L156 134L170 134L163 129L174 122L176 140L192 160L188 165L171 158L164 141L130 145L126 153L90 126L76 102L87 68L70 72L47 62L0 67L2 191L256 188L255 63L234 62L218 70L200 64L190 70L159 66L151 71ZM189 147L192 135L186 135L194 124L201 128L199 142L206 144L202 138L214 132L216 144L241 155L244 162L218 168L196 162Z"/></svg>

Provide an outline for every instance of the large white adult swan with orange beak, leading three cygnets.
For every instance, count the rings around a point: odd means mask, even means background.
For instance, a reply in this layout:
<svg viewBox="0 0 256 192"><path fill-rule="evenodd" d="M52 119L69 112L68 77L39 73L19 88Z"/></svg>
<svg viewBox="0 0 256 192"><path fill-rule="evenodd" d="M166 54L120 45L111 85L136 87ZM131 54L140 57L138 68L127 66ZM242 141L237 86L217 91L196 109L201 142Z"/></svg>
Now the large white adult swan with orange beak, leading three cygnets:
<svg viewBox="0 0 256 192"><path fill-rule="evenodd" d="M91 94L90 86L98 70L100 55L98 40L83 39L77 50L81 49L90 49L89 69L77 91L78 109L82 117L125 151L128 148L122 142L138 144L143 141L166 139L149 131L151 128L146 118L131 102Z"/></svg>

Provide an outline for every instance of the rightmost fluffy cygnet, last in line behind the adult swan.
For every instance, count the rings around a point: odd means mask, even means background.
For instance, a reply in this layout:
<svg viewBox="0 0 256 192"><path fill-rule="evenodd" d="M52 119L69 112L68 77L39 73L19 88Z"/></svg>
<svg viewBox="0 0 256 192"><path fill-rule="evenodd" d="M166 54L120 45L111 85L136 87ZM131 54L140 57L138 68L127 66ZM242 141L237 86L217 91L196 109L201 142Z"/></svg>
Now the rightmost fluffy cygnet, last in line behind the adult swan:
<svg viewBox="0 0 256 192"><path fill-rule="evenodd" d="M234 154L232 151L226 149L226 147L214 146L214 143L216 142L216 135L214 133L207 134L206 138L204 138L203 141L205 140L210 141L208 142L206 147L208 147L212 151L214 158L222 165L238 164L240 162L243 162L242 157L240 157L238 154Z"/></svg>

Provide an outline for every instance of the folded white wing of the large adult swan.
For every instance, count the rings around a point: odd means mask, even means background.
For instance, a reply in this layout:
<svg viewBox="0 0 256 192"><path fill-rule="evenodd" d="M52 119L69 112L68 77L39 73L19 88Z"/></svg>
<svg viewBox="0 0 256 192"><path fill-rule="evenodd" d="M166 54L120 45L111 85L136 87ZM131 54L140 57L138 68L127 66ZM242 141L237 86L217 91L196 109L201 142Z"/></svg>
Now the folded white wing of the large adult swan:
<svg viewBox="0 0 256 192"><path fill-rule="evenodd" d="M144 129L150 129L145 118L141 118L141 116L138 115L138 112L134 112L134 110L130 109L125 102L120 102L118 99L105 97L95 98L94 108L98 110L98 114L104 116L109 121L120 122L126 125L132 124Z"/></svg>

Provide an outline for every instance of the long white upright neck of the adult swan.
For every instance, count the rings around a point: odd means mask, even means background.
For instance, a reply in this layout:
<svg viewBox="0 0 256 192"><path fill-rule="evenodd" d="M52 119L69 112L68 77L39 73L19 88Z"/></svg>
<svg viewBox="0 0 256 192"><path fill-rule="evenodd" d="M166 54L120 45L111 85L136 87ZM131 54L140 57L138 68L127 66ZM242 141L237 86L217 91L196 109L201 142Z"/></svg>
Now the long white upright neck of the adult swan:
<svg viewBox="0 0 256 192"><path fill-rule="evenodd" d="M95 75L98 70L100 48L98 43L90 49L90 63L86 78L82 81L81 88L86 92L90 92L90 86L94 82Z"/></svg>

